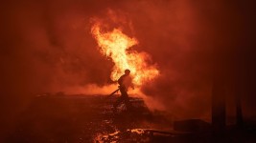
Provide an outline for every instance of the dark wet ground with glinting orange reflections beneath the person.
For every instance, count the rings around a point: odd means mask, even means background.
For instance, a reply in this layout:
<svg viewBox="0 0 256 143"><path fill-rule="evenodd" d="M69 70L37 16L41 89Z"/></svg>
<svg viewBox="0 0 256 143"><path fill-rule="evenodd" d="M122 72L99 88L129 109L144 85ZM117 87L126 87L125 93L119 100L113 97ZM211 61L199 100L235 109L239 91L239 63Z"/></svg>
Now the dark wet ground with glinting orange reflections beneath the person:
<svg viewBox="0 0 256 143"><path fill-rule="evenodd" d="M230 127L221 135L210 131L177 132L168 112L150 112L140 98L130 98L132 111L121 105L112 112L116 96L40 95L20 114L7 142L256 142L256 130Z"/></svg>

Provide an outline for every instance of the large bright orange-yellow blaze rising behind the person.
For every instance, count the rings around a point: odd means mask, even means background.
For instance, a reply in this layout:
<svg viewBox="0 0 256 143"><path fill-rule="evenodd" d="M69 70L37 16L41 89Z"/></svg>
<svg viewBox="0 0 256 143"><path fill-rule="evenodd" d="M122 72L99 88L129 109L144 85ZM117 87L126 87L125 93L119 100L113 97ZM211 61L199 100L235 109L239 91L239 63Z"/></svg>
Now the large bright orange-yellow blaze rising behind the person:
<svg viewBox="0 0 256 143"><path fill-rule="evenodd" d="M130 70L133 77L133 84L141 86L145 82L151 81L159 74L155 65L149 65L147 60L150 55L146 52L131 51L132 46L138 44L137 39L130 38L121 29L113 31L103 31L102 25L96 22L91 32L100 47L100 51L110 57L115 66L110 78L116 81L126 69Z"/></svg>

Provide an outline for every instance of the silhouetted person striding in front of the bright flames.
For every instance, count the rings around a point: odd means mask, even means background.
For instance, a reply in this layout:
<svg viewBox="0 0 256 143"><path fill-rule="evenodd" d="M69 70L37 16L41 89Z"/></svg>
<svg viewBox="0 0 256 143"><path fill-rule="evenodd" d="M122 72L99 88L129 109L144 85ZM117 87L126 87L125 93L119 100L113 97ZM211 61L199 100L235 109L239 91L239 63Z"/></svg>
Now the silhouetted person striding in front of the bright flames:
<svg viewBox="0 0 256 143"><path fill-rule="evenodd" d="M122 75L118 79L118 84L119 84L119 89L121 92L121 96L118 97L117 101L114 103L114 112L116 112L117 107L124 102L127 109L129 110L131 108L131 104L128 100L128 88L131 86L132 89L134 89L133 84L132 84L132 79L129 76L129 70L125 71L125 74Z"/></svg>

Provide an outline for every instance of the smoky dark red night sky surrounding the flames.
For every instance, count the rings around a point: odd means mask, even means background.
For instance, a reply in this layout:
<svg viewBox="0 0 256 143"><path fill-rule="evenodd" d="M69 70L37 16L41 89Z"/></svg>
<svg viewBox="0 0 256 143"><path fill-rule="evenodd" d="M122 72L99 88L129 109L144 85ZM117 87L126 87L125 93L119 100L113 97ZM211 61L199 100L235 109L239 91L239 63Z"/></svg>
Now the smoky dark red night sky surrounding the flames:
<svg viewBox="0 0 256 143"><path fill-rule="evenodd" d="M90 34L90 18L106 18L107 10L125 18L120 26L140 43L133 49L148 52L157 64L161 75L143 92L166 110L208 117L217 60L228 105L239 73L244 113L256 114L253 1L27 0L0 8L3 123L14 122L35 93L109 83L113 63Z"/></svg>

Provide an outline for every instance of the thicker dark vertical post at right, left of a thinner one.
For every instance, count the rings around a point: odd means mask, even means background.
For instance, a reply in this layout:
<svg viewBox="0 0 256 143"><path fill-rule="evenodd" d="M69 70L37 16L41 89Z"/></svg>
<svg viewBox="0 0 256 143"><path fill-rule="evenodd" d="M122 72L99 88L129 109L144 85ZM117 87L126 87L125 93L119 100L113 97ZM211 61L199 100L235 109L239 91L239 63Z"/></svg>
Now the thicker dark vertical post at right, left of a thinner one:
<svg viewBox="0 0 256 143"><path fill-rule="evenodd" d="M225 98L227 88L226 47L220 43L214 49L213 89L212 89L212 125L214 133L222 133L225 129Z"/></svg>

